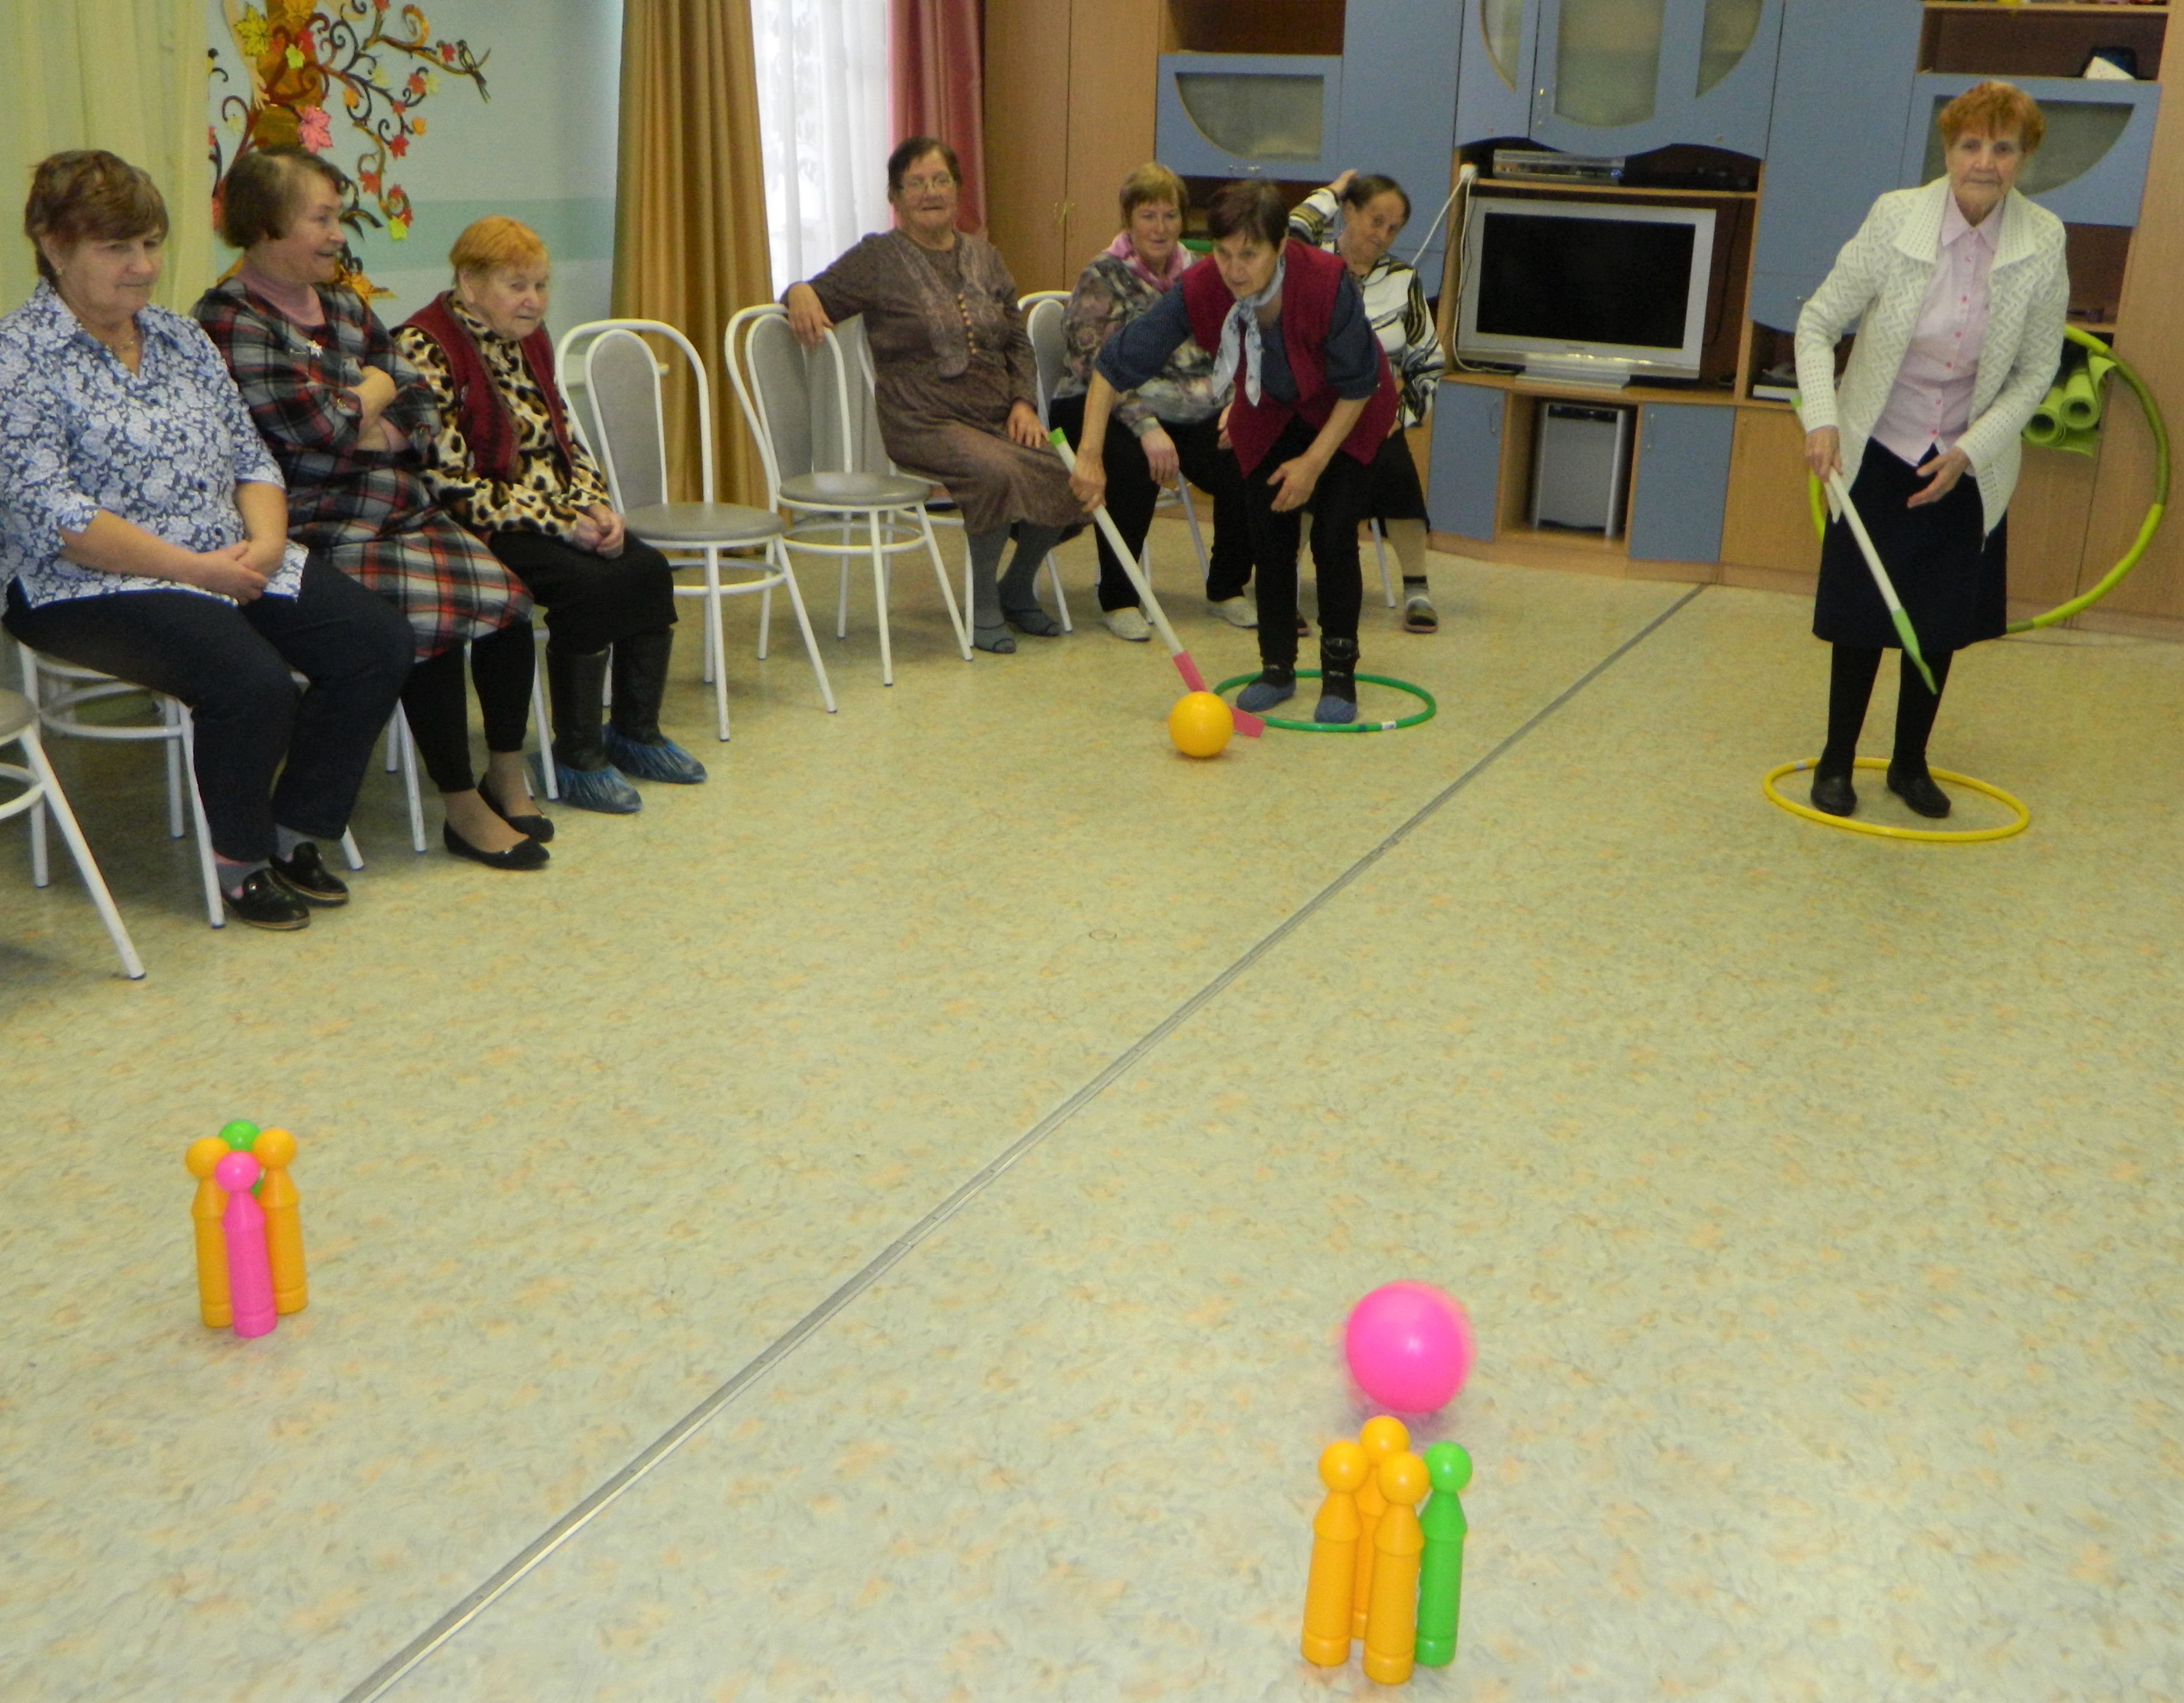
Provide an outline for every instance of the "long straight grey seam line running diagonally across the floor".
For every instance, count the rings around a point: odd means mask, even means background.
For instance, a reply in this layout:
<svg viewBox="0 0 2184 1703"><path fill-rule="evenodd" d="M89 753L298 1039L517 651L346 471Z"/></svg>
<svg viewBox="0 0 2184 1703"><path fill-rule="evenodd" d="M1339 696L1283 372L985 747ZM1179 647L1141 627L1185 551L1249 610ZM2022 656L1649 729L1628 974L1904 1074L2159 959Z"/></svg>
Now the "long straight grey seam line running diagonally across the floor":
<svg viewBox="0 0 2184 1703"><path fill-rule="evenodd" d="M478 1585L470 1596L456 1603L448 1613L435 1620L426 1631L404 1644L395 1655L382 1662L360 1686L345 1692L341 1703L376 1703L376 1699L391 1692L404 1675L413 1672L426 1657L441 1648L450 1637L454 1637L463 1627L476 1620L487 1607L507 1596L524 1574L537 1568L546 1557L568 1544L577 1533L590 1526L601 1513L605 1513L614 1502L622 1498L640 1478L644 1478L653 1467L666 1461L675 1450L688 1443L699 1430L703 1430L712 1419L721 1415L738 1395L743 1395L751 1384L764 1378L773 1367L795 1354L804 1343L808 1343L828 1321L843 1312L858 1295L871 1288L880 1277L902 1264L922 1242L926 1242L933 1231L954 1218L963 1207L985 1194L1000 1177L1016 1168L1018 1159L1040 1146L1048 1135L1068 1124L1079 1111L1083 1111L1092 1100L1105 1094L1116 1079L1144 1059L1153 1048L1158 1048L1168 1035L1190 1022L1199 1011L1203 1011L1212 1000L1225 993L1238 976L1251 969L1260 958L1265 958L1273 948L1295 934L1310 917L1341 897L1365 871L1369 871L1380 858L1402 845L1417 827L1433 819L1457 793L1470 786L1479 775L1492 769L1500 758L1516 749L1533 729L1546 723L1557 710L1562 710L1570 699L1583 692L1592 681L1614 668L1623 657L1645 644L1655 631L1660 631L1671 618L1682 614L1682 609L1704 592L1704 585L1693 585L1684 596L1662 609L1653 620L1623 640L1614 651L1592 664L1583 675L1570 681L1562 692L1548 699L1540 710L1535 710L1516 731L1503 736L1494 749L1483 758L1472 762L1461 775L1457 775L1448 786L1435 793L1426 803L1411 812L1409 819L1398 823L1387 832L1387 836L1365 851L1356 862L1343 869L1334 880L1321 886L1310 900L1289 913L1271 930L1267 930L1258 941L1254 941L1243 956L1230 963L1221 974L1206 982L1197 993L1184 1000L1175 1011L1162 1017L1153 1028L1131 1041L1123 1052L1107 1061L1096 1076L1092 1076L1083 1087L1070 1094L1061 1105L1048 1111L1040 1122L1018 1135L998 1155L985 1162L972 1177L957 1186L957 1190L933 1207L924 1218L902 1231L893 1242L880 1249L871 1260L867 1260L858 1271L854 1271L841 1286L834 1288L819 1306L797 1319L788 1330L775 1336L764 1349L760 1349L751 1360L747 1360L725 1384L721 1384L712 1395L699 1402L690 1413L668 1426L660 1437L655 1437L642 1452L638 1452L620 1472L607 1478L598 1489L585 1496L574 1509L555 1520L544 1533L539 1533L531 1544L526 1544L507 1565L502 1565L491 1579Z"/></svg>

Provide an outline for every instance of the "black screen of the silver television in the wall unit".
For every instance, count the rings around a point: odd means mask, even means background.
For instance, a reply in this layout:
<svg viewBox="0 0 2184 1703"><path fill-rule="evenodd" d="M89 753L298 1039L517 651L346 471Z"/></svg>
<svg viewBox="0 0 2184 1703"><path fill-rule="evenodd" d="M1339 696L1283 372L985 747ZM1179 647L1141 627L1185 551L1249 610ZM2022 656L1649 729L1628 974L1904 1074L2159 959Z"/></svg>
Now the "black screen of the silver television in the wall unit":
<svg viewBox="0 0 2184 1703"><path fill-rule="evenodd" d="M1690 317L1684 223L1485 212L1479 332L1546 343L1682 349Z"/></svg>

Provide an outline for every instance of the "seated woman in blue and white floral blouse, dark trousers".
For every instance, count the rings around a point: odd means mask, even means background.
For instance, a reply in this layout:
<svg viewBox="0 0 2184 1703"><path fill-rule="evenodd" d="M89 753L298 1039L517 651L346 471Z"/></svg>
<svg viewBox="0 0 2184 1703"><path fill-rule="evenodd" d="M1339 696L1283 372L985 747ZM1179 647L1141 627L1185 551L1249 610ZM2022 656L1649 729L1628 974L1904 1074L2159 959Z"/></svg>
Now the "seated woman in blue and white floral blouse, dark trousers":
<svg viewBox="0 0 2184 1703"><path fill-rule="evenodd" d="M151 177L57 153L24 229L39 286L0 319L7 629L190 705L227 910L304 928L306 906L347 900L317 843L347 825L408 627L288 541L280 467L218 352L151 306L166 240Z"/></svg>

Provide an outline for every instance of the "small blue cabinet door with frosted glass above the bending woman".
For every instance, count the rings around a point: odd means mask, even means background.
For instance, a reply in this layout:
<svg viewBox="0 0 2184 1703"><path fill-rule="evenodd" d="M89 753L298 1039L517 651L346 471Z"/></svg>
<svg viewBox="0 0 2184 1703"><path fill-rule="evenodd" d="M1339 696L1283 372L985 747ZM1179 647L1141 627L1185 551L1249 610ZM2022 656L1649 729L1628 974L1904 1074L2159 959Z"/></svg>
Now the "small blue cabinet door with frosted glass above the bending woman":
<svg viewBox="0 0 2184 1703"><path fill-rule="evenodd" d="M1186 177L1326 183L1341 170L1341 111L1339 55L1160 55L1155 151Z"/></svg>

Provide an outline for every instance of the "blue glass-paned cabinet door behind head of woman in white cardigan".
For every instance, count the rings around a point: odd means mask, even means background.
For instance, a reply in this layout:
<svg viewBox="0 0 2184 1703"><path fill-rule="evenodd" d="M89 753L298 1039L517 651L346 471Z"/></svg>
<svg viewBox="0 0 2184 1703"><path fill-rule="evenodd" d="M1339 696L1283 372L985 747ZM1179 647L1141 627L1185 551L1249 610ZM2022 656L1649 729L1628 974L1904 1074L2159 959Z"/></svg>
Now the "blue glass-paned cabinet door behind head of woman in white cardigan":
<svg viewBox="0 0 2184 1703"><path fill-rule="evenodd" d="M1926 183L1942 175L1942 133L1935 114L1981 76L1922 72L1911 87L1904 120L1900 181ZM2079 76L2009 79L2040 103L2046 140L2025 162L2018 188L2070 225L2136 225L2153 151L2160 83L2110 83ZM1771 186L1769 186L1771 188Z"/></svg>

